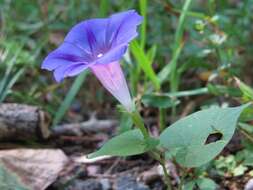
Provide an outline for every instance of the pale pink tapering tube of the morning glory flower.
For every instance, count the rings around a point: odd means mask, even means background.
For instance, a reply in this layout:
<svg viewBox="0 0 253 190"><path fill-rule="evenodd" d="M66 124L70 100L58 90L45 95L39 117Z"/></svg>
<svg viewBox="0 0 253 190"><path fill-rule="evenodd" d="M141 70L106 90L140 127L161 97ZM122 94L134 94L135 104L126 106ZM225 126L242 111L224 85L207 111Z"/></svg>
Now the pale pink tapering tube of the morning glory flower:
<svg viewBox="0 0 253 190"><path fill-rule="evenodd" d="M91 67L102 85L128 110L134 106L119 62L94 64Z"/></svg>

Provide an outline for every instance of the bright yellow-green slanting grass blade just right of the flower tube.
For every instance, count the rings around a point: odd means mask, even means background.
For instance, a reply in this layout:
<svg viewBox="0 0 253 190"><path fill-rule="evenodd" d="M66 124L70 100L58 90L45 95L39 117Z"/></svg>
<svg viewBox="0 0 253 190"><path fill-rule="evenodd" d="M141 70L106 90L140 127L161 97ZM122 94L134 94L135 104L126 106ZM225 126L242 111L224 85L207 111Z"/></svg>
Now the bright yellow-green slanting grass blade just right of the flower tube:
<svg viewBox="0 0 253 190"><path fill-rule="evenodd" d="M151 64L150 60L148 60L147 56L143 49L141 49L140 45L137 41L133 41L130 44L131 52L133 53L135 59L137 60L138 64L140 65L141 69L144 71L146 76L152 81L156 89L160 88L160 81L158 80Z"/></svg>

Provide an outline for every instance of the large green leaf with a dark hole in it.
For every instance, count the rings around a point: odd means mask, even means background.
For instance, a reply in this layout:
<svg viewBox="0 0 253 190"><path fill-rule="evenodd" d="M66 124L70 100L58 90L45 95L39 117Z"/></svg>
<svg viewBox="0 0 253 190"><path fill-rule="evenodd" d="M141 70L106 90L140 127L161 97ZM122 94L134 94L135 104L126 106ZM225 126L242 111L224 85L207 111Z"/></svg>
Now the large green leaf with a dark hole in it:
<svg viewBox="0 0 253 190"><path fill-rule="evenodd" d="M191 114L160 136L161 146L175 151L176 161L186 167L198 167L218 155L232 138L241 112L249 104L234 108L211 108ZM212 134L221 139L207 143Z"/></svg>

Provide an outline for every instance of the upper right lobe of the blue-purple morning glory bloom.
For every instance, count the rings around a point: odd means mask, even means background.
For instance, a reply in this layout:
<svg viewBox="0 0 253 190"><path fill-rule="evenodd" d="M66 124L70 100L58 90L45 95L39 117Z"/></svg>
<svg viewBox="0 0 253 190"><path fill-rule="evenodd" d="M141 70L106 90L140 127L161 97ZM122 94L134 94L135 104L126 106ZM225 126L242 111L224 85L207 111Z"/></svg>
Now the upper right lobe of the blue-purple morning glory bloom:
<svg viewBox="0 0 253 190"><path fill-rule="evenodd" d="M142 16L135 10L112 15L106 31L107 42L113 45L129 43L138 35L137 26L142 20Z"/></svg>

